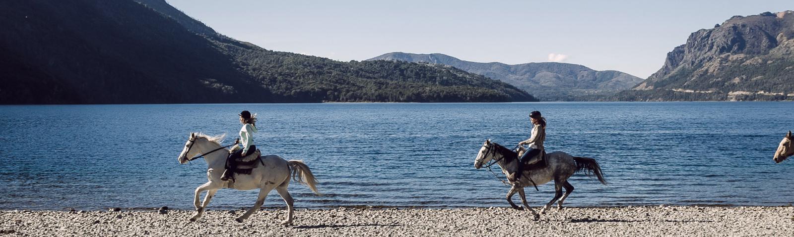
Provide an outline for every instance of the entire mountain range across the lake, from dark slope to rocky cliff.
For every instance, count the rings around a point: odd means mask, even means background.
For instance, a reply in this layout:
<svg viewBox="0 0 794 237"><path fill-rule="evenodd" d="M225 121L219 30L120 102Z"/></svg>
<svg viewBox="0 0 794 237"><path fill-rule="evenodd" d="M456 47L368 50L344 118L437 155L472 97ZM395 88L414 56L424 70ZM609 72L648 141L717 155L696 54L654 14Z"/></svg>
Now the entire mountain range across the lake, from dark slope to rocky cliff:
<svg viewBox="0 0 794 237"><path fill-rule="evenodd" d="M794 100L792 11L693 32L645 80L570 63L274 52L164 0L2 1L0 29L0 104Z"/></svg>

